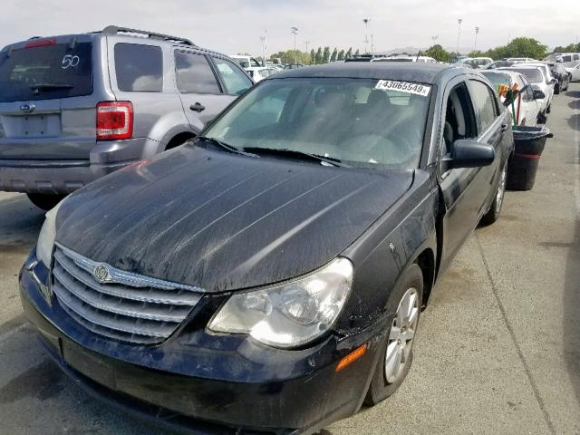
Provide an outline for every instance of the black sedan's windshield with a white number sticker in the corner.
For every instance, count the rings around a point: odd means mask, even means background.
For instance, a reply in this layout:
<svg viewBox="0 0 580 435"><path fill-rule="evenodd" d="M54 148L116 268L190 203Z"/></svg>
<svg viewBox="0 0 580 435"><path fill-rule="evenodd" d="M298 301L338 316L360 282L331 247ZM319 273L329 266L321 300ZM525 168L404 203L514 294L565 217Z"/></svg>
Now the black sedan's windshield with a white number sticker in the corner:
<svg viewBox="0 0 580 435"><path fill-rule="evenodd" d="M258 154L297 151L357 168L415 169L430 91L420 83L373 79L267 80L204 135Z"/></svg>

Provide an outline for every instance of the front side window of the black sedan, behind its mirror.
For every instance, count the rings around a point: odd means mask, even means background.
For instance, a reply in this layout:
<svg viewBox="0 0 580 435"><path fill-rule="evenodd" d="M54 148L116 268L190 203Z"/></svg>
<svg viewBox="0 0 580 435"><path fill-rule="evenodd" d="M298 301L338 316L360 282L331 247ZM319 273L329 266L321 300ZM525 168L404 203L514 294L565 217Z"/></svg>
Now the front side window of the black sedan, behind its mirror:
<svg viewBox="0 0 580 435"><path fill-rule="evenodd" d="M451 152L451 145L455 140L475 138L477 129L475 114L469 100L469 92L465 83L458 84L449 92L445 109L445 124L443 127L443 141L445 147L442 154Z"/></svg>

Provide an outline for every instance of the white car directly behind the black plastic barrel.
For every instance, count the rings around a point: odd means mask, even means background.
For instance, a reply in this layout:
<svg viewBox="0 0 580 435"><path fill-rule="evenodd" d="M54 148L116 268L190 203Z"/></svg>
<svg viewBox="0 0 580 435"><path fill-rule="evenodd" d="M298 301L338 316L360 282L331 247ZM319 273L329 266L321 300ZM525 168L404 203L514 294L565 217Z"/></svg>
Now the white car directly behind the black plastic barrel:
<svg viewBox="0 0 580 435"><path fill-rule="evenodd" d="M503 84L513 87L517 83L519 89L519 96L514 102L514 109L516 111L514 117L517 125L536 125L538 121L544 121L542 111L542 104L534 98L534 90L532 85L527 81L526 76L522 73L516 73L508 70L485 70L481 73L493 85L493 88L498 92L499 87ZM505 102L506 98L501 97L501 102ZM511 106L508 107L512 111ZM538 115L540 115L538 117ZM538 120L539 118L539 120Z"/></svg>

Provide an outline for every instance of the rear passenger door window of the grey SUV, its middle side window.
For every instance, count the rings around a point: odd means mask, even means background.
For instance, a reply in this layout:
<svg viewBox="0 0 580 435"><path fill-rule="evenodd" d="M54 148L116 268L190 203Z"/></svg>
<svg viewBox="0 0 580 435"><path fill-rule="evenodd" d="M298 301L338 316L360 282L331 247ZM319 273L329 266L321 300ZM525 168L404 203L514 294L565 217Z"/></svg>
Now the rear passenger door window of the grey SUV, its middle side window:
<svg viewBox="0 0 580 435"><path fill-rule="evenodd" d="M202 54L175 52L175 78L181 93L221 93L216 75Z"/></svg>

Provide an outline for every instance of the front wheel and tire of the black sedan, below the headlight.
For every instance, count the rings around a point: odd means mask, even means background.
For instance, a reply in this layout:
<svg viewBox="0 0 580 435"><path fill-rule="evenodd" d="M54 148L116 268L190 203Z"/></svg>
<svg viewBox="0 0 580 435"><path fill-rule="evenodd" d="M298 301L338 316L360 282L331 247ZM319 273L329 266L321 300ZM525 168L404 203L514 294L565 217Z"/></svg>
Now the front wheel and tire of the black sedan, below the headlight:
<svg viewBox="0 0 580 435"><path fill-rule="evenodd" d="M407 297L410 292L413 297L407 301L411 301L413 307L411 314L413 320L409 322L409 316L405 316L407 322L402 322L402 324L407 328L407 331L403 332L403 328L398 329L401 324L400 316L395 315L392 319L389 331L386 333L386 336L379 347L379 362L377 362L375 372L372 375L369 391L367 391L366 397L364 398L364 404L367 406L374 406L391 396L393 392L397 391L411 369L411 362L413 359L412 344L414 341L414 334L417 332L417 325L419 324L420 307L423 299L423 274L420 267L415 263L405 269L401 275L401 279L389 296L386 306L387 312L400 313L401 306L404 303L403 299ZM405 310L403 309L403 312L404 311ZM394 336L391 336L391 334L397 333L395 328L399 330L399 335L397 335L396 339ZM409 331L412 332L411 339L403 338L401 340L401 333L405 333L406 336L409 336ZM404 348L401 348L399 343L404 343ZM397 353L397 351L400 351L400 353ZM393 354L395 356L392 356ZM401 363L398 366L396 364L397 354L401 355L401 359L404 358L404 362L400 360ZM392 375L393 372L389 368L385 368L385 366L387 366L386 361L389 355L391 355L390 361L394 362L391 365L391 368L396 367L398 369L395 378L391 380L388 379L389 374L387 373ZM395 359L392 360L392 358ZM401 364L404 365L401 366Z"/></svg>

